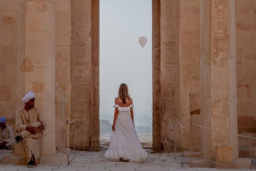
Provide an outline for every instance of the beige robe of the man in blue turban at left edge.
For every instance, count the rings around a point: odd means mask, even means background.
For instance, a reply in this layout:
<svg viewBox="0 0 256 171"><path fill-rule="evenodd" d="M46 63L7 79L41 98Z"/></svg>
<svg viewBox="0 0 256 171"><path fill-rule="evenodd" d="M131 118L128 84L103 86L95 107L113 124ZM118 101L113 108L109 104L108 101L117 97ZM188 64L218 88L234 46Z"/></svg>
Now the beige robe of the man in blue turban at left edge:
<svg viewBox="0 0 256 171"><path fill-rule="evenodd" d="M4 129L0 128L0 139L6 140L7 143L5 144L5 147L12 149L14 136L10 126L6 125ZM0 140L0 142L3 142L3 140Z"/></svg>

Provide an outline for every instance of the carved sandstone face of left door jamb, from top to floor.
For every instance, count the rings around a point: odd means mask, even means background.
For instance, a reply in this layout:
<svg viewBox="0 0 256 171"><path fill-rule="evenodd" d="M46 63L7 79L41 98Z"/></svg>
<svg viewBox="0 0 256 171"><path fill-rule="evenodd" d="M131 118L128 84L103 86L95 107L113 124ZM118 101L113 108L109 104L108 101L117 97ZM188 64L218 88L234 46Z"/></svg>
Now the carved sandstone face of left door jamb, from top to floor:
<svg viewBox="0 0 256 171"><path fill-rule="evenodd" d="M71 44L71 118L90 123L91 82L91 0L72 0L72 44ZM84 128L86 127L86 128ZM86 150L90 146L90 124L77 125L84 138L77 139L76 149ZM85 129L88 132L85 132ZM72 136L72 134L71 134Z"/></svg>

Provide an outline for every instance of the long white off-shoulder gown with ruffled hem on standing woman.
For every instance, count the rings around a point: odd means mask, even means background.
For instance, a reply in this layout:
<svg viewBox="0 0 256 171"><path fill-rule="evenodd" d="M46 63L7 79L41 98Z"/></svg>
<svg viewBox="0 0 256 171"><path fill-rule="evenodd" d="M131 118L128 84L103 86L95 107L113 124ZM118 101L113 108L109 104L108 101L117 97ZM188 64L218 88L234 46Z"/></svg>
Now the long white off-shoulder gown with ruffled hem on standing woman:
<svg viewBox="0 0 256 171"><path fill-rule="evenodd" d="M115 104L113 107L118 107L118 117L116 119L116 129L112 131L109 149L106 151L105 157L111 159L123 157L124 160L128 159L129 161L146 159L148 154L142 149L129 114L130 108L133 108L134 105L119 107L118 104Z"/></svg>

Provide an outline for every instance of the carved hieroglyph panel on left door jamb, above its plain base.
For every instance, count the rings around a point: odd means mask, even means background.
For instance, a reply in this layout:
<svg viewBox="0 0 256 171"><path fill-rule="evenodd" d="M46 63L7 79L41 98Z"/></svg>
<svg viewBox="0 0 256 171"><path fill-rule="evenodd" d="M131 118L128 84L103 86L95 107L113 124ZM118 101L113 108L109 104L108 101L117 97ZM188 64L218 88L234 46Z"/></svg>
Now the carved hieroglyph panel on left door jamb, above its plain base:
<svg viewBox="0 0 256 171"><path fill-rule="evenodd" d="M87 53L89 29L89 10L88 0L75 0L74 7L74 111L88 111L89 110L89 57Z"/></svg>

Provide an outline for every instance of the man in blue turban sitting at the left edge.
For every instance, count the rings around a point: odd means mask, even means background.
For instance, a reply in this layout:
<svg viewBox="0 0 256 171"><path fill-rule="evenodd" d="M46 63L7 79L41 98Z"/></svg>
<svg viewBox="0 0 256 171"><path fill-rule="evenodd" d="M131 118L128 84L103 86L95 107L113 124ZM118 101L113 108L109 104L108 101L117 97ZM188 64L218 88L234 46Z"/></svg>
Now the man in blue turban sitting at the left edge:
<svg viewBox="0 0 256 171"><path fill-rule="evenodd" d="M12 128L5 124L6 119L0 117L0 149L12 150L12 145L14 141L14 136Z"/></svg>

